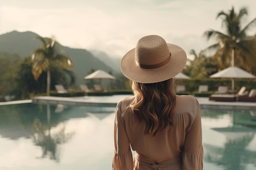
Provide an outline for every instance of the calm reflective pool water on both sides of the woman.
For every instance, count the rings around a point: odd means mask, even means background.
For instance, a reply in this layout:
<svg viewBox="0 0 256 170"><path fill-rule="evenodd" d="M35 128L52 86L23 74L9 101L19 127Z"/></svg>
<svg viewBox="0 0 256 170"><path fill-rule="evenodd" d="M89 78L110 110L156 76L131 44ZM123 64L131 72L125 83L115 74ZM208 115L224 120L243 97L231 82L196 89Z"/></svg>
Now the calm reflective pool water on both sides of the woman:
<svg viewBox="0 0 256 170"><path fill-rule="evenodd" d="M114 107L0 106L0 170L111 170L114 116ZM202 108L202 129L205 170L256 170L255 110Z"/></svg>

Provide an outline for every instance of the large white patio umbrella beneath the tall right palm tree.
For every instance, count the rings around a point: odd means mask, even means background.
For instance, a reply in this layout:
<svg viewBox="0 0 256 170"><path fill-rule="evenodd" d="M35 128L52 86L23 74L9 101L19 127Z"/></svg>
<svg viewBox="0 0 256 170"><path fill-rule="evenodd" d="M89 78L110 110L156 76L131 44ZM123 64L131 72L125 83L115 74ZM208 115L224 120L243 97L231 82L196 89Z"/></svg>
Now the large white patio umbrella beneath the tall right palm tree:
<svg viewBox="0 0 256 170"><path fill-rule="evenodd" d="M231 88L233 91L235 88L235 78L243 78L243 79L256 78L251 73L248 73L247 71L244 71L243 69L238 68L236 66L231 66L231 67L225 68L224 70L219 71L218 73L215 73L215 74L211 75L210 77L211 78L231 78L232 79Z"/></svg>

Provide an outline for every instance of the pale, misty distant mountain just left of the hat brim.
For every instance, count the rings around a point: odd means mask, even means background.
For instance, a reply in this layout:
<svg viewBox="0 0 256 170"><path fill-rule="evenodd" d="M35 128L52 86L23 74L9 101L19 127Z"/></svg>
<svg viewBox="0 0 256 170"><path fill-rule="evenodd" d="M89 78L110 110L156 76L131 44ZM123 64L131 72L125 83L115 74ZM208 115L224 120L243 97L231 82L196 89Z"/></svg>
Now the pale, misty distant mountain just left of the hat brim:
<svg viewBox="0 0 256 170"><path fill-rule="evenodd" d="M110 57L107 53L98 50L90 50L90 52L102 62L113 68L115 71L120 72L121 58Z"/></svg>

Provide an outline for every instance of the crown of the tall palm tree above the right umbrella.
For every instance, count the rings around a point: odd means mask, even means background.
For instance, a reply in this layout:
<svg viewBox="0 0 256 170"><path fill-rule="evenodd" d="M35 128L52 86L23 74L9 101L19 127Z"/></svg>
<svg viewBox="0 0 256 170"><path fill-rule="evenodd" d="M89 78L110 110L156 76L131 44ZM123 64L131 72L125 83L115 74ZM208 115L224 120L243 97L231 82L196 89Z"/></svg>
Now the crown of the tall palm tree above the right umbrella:
<svg viewBox="0 0 256 170"><path fill-rule="evenodd" d="M247 15L246 8L241 8L239 13L234 11L234 7L231 8L229 13L220 11L217 18L223 17L222 24L226 33L221 33L215 30L204 32L204 36L207 37L207 40L214 37L218 41L218 43L209 46L207 49L217 49L213 58L218 60L221 68L230 66L230 57L231 66L235 65L235 57L239 60L241 66L250 64L250 61L246 60L246 58L247 55L251 55L251 52L246 44L247 41L251 40L253 37L247 36L246 33L252 26L255 26L256 18L242 29L241 22L243 21L242 18L244 15ZM235 51L240 54L239 57L235 56Z"/></svg>

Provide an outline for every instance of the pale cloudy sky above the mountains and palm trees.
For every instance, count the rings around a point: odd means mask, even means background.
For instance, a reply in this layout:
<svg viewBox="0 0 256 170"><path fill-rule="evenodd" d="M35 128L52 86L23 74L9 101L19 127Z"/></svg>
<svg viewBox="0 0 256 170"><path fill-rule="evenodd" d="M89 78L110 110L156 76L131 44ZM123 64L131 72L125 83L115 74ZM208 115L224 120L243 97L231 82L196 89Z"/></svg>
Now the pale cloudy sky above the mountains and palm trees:
<svg viewBox="0 0 256 170"><path fill-rule="evenodd" d="M193 59L191 49L199 53L214 43L202 36L205 31L225 33L216 16L232 6L236 12L247 8L242 27L256 18L256 0L0 0L0 34L32 31L120 58L140 38L159 35Z"/></svg>

